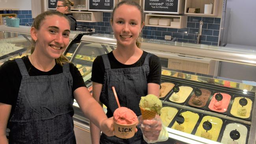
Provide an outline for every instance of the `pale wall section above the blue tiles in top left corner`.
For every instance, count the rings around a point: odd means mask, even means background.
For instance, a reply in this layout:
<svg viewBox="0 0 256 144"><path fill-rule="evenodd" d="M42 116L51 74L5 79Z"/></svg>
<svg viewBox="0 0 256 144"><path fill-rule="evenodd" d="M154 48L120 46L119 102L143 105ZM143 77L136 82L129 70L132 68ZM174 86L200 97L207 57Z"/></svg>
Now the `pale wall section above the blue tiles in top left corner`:
<svg viewBox="0 0 256 144"><path fill-rule="evenodd" d="M0 9L31 10L31 0L0 0Z"/></svg>

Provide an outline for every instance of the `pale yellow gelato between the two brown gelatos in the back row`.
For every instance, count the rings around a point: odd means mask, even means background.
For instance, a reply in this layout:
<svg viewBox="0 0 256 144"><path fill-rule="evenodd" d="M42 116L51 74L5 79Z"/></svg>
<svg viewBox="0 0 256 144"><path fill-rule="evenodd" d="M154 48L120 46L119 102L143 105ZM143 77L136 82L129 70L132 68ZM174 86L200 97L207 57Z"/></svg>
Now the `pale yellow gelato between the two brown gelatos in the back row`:
<svg viewBox="0 0 256 144"><path fill-rule="evenodd" d="M180 86L180 91L175 94L175 92L170 96L169 100L176 103L184 103L187 97L192 92L193 88L188 86Z"/></svg>

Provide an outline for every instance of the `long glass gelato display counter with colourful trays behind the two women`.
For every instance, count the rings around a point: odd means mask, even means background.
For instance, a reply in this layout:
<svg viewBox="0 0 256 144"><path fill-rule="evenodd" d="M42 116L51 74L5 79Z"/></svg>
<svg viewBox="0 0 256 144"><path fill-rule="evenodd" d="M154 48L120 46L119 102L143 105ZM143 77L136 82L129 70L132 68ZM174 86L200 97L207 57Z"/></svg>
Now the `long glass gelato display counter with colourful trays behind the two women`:
<svg viewBox="0 0 256 144"><path fill-rule="evenodd" d="M97 55L116 47L113 35L84 35L78 48L67 50L70 60L85 74L91 90L91 66ZM169 139L159 144L254 144L256 142L256 87L243 79L218 76L219 61L256 66L256 52L180 42L143 39L141 48L158 55L162 65L160 100L163 103L161 120L167 127ZM169 59L178 60L173 63ZM206 74L174 69L170 63L179 60L194 63L214 63ZM90 67L90 68L88 68ZM209 66L208 66L209 67ZM211 66L210 66L211 67ZM200 67L197 67L200 68ZM89 72L88 72L89 70ZM211 74L211 75L210 75ZM77 103L75 125L89 130L89 120ZM106 109L105 109L106 111Z"/></svg>

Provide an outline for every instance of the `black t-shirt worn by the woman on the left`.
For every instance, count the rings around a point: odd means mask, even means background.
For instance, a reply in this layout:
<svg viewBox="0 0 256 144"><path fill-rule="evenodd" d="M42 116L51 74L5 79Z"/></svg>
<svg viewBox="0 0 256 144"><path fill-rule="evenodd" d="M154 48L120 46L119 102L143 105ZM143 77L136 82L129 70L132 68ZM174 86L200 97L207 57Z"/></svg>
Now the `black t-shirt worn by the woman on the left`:
<svg viewBox="0 0 256 144"><path fill-rule="evenodd" d="M52 70L43 72L35 68L30 63L27 56L22 57L21 59L24 61L30 76L50 76L63 72L63 67L58 64L56 64ZM76 66L74 66L74 64L69 63L69 71L73 79L72 93L79 87L86 87L80 72ZM12 105L11 113L16 106L21 79L22 76L19 70L19 66L15 60L7 61L0 67L0 103Z"/></svg>

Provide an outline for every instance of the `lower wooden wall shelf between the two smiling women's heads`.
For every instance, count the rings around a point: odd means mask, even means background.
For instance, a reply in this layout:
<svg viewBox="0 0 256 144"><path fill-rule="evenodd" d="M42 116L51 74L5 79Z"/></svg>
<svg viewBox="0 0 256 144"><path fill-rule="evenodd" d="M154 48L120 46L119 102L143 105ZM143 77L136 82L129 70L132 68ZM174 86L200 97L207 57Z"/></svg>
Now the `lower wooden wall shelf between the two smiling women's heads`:
<svg viewBox="0 0 256 144"><path fill-rule="evenodd" d="M71 11L78 22L102 22L103 12Z"/></svg>

